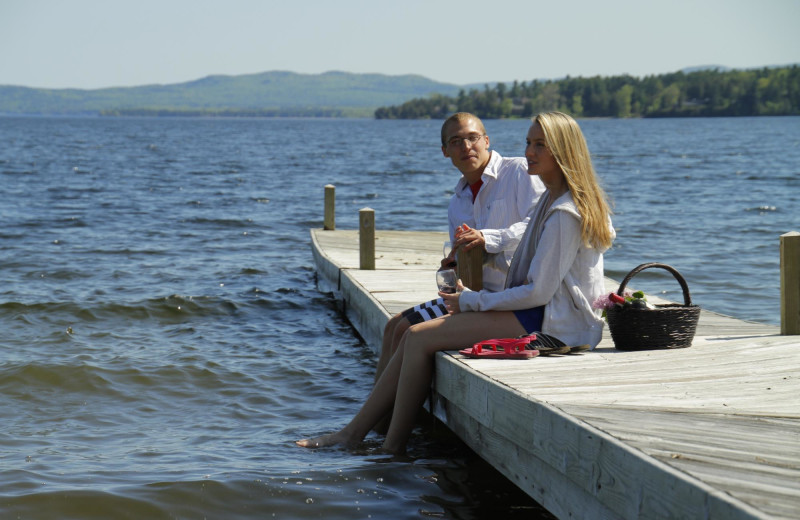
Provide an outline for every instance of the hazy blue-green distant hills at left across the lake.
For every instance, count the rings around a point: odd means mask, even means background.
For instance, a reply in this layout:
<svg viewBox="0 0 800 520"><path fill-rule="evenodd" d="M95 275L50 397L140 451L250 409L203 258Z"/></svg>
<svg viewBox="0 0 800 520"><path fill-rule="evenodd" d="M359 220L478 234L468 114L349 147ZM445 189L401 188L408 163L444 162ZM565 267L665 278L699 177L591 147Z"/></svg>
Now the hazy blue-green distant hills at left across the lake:
<svg viewBox="0 0 800 520"><path fill-rule="evenodd" d="M417 75L272 71L96 90L0 86L0 114L371 117L382 105L458 90Z"/></svg>

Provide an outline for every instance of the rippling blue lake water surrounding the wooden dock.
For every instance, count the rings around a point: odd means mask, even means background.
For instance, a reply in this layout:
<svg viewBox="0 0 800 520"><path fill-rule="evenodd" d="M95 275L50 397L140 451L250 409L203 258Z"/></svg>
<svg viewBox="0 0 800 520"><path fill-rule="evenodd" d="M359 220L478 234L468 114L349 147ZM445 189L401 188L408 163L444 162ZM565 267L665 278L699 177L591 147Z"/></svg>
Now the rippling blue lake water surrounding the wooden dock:
<svg viewBox="0 0 800 520"><path fill-rule="evenodd" d="M800 118L581 125L615 202L606 274L667 263L704 308L777 324ZM339 228L369 206L445 230L439 126L0 118L0 517L546 517L440 426L403 459L293 444L374 370L315 286L323 186ZM503 155L527 127L487 121ZM632 284L682 299L668 274Z"/></svg>

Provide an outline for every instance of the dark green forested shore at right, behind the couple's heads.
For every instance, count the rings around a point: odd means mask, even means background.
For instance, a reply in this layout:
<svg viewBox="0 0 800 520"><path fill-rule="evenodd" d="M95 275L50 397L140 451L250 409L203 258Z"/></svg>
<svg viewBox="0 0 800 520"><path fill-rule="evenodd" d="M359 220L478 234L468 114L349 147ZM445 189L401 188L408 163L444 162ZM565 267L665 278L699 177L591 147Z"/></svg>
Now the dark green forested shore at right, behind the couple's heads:
<svg viewBox="0 0 800 520"><path fill-rule="evenodd" d="M375 111L378 119L531 117L561 110L576 117L800 115L800 67L699 70L635 78L611 76L499 83L432 95Z"/></svg>

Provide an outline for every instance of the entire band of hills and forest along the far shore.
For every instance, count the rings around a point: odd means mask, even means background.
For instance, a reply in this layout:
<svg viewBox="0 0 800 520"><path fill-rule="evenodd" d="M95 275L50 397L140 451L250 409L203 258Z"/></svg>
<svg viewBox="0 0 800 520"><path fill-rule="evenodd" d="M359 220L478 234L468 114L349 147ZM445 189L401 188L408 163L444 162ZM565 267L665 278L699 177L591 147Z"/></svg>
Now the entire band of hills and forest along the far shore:
<svg viewBox="0 0 800 520"><path fill-rule="evenodd" d="M484 119L548 110L585 117L729 117L800 114L800 67L678 71L458 86L422 76L267 72L174 85L98 90L0 85L0 114L158 117Z"/></svg>

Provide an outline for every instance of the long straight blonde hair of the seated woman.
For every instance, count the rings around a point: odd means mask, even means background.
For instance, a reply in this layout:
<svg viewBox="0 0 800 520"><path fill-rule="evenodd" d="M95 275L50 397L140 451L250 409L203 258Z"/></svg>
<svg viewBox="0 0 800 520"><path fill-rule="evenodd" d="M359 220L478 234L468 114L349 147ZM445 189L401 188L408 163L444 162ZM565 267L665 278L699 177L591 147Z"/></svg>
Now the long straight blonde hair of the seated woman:
<svg viewBox="0 0 800 520"><path fill-rule="evenodd" d="M598 249L611 247L611 208L597 179L589 147L577 121L562 112L544 112L533 118L544 131L545 144L561 167L572 199L581 215L581 238Z"/></svg>

